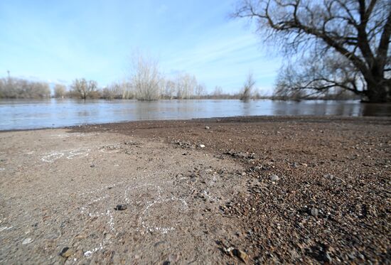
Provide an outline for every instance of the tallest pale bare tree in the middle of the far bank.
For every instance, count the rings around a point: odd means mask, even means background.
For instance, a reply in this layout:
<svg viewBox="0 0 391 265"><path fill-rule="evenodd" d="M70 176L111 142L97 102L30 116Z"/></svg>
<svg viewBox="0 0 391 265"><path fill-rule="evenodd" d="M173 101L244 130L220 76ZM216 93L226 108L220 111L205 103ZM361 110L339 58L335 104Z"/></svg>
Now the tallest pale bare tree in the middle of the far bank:
<svg viewBox="0 0 391 265"><path fill-rule="evenodd" d="M130 78L139 100L156 100L160 97L161 73L155 58L135 53Z"/></svg>

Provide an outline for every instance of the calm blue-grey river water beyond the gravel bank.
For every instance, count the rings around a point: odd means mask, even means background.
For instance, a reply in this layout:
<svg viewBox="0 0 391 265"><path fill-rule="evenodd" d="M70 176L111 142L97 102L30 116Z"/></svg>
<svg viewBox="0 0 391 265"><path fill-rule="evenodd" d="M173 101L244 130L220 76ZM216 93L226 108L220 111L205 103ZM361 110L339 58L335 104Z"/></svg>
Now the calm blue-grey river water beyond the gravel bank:
<svg viewBox="0 0 391 265"><path fill-rule="evenodd" d="M249 115L390 116L391 104L279 102L272 100L0 100L0 130L60 127L117 121L193 119Z"/></svg>

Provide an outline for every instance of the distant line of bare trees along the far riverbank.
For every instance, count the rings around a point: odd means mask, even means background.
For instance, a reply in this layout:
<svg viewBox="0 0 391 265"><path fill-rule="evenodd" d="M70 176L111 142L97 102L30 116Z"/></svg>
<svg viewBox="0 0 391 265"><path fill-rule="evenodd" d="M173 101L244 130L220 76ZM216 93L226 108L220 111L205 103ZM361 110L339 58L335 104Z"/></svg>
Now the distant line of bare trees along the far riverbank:
<svg viewBox="0 0 391 265"><path fill-rule="evenodd" d="M99 87L95 80L85 78L75 79L68 87L56 84L53 95L47 82L34 82L16 77L0 79L0 98L75 98L75 99L240 99L244 102L250 99L359 99L353 92L335 87L323 90L321 93L309 93L306 90L286 90L291 80L296 77L294 72L280 72L276 88L272 96L261 94L255 87L255 78L249 72L242 88L235 94L223 91L216 86L208 93L205 85L194 75L180 72L176 76L166 77L159 69L155 58L135 53L132 57L132 68L122 82L113 82L106 87Z"/></svg>

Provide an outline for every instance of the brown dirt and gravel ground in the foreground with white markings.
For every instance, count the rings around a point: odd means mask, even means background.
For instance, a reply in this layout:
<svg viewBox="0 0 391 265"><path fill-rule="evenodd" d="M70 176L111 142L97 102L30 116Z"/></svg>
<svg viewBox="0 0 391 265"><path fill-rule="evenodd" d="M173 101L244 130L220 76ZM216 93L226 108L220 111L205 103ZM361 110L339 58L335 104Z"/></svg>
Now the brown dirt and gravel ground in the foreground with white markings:
<svg viewBox="0 0 391 265"><path fill-rule="evenodd" d="M0 264L390 263L390 118L0 133Z"/></svg>

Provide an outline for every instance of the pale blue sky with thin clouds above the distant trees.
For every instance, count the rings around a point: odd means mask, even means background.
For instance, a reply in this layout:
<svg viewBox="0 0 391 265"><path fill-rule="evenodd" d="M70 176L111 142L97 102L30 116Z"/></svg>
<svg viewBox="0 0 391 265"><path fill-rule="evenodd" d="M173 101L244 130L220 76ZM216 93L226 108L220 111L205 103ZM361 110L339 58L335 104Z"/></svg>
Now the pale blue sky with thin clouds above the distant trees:
<svg viewBox="0 0 391 265"><path fill-rule="evenodd" d="M188 72L208 91L237 92L249 71L271 91L281 58L267 55L235 1L0 1L0 76L100 86L129 77L134 50L168 77Z"/></svg>

